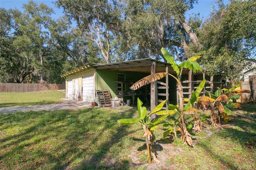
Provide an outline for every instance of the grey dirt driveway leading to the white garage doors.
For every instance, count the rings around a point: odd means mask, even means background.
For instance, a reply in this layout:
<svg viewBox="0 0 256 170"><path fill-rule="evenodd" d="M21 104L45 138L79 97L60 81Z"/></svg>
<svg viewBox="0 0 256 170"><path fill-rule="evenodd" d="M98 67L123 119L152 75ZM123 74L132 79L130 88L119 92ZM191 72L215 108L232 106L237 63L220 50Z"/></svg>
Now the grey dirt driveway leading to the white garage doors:
<svg viewBox="0 0 256 170"><path fill-rule="evenodd" d="M0 114L27 112L27 111L52 111L52 110L72 110L82 107L91 107L90 102L63 99L62 103L53 105L34 105L17 107L0 107Z"/></svg>

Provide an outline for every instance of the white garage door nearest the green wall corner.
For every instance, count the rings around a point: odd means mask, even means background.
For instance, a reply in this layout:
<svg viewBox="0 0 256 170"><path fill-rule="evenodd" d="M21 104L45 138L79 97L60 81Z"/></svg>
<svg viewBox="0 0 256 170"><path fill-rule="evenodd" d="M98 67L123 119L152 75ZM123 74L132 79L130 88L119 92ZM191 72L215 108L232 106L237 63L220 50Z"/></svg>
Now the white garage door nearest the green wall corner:
<svg viewBox="0 0 256 170"><path fill-rule="evenodd" d="M83 77L83 101L94 102L94 75Z"/></svg>

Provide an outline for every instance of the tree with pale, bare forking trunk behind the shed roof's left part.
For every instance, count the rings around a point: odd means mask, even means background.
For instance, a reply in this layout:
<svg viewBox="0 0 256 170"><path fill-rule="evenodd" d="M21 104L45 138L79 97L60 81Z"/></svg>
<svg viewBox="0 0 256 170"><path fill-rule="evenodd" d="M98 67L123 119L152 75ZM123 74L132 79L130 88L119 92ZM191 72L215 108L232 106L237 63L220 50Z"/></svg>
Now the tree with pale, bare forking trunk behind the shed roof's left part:
<svg viewBox="0 0 256 170"><path fill-rule="evenodd" d="M115 22L114 11L116 2L108 0L58 0L57 6L62 6L64 12L76 21L77 28L88 39L96 43L106 63L110 63L111 54L116 48L113 45L115 35L110 29Z"/></svg>

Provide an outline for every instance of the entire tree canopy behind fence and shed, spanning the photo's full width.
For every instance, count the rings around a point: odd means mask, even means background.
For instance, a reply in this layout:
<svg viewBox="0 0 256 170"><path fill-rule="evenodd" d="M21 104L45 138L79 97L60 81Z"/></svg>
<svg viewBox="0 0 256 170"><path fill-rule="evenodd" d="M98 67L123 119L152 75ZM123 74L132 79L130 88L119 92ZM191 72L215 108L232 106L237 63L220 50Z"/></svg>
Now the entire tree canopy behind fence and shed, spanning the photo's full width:
<svg viewBox="0 0 256 170"><path fill-rule="evenodd" d="M256 52L256 2L217 2L210 18L185 13L197 0L58 0L65 16L28 1L24 12L0 8L0 82L61 83L86 63L162 59L166 48L183 61L201 55L207 75L240 77ZM74 27L74 23L76 26Z"/></svg>

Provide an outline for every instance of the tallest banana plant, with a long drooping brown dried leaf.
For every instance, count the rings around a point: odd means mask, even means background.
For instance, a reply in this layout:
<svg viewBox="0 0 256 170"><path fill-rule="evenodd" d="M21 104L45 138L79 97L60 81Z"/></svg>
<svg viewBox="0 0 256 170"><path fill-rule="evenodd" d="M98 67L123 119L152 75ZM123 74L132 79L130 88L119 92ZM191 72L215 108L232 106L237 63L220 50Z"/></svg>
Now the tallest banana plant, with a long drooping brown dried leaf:
<svg viewBox="0 0 256 170"><path fill-rule="evenodd" d="M134 83L130 87L130 89L136 90L136 89L138 89L146 84L149 84L153 81L162 79L166 75L170 75L171 77L173 77L177 82L177 93L178 93L178 98L179 98L179 106L177 107L178 108L177 110L178 110L178 113L180 114L181 137L184 142L188 143L190 146L193 146L192 138L190 137L190 134L188 133L188 130L186 129L184 110L189 109L190 106L194 104L194 102L196 101L196 97L199 96L199 94L196 93L196 95L192 95L190 101L184 107L183 97L182 97L183 96L183 87L182 87L182 83L181 83L181 77L182 77L183 69L192 70L194 73L196 73L197 71L202 71L202 68L196 62L196 60L198 58L200 58L200 56L196 55L196 56L190 57L188 60L186 60L178 65L174 61L174 57L172 57L166 49L162 48L161 52L162 52L164 58L172 65L172 68L175 71L176 75L172 75L170 73L165 73L165 72L149 75L147 77L144 77L143 79L140 79L136 83ZM205 80L204 80L204 83L205 83ZM198 87L198 88L200 88L200 87Z"/></svg>

